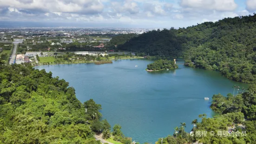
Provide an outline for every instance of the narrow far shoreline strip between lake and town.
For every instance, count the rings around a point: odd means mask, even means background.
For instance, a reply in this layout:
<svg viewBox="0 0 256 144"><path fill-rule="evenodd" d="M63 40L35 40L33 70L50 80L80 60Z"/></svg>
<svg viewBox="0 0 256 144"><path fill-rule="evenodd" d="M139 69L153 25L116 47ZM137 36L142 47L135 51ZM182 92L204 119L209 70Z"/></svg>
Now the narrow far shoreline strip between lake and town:
<svg viewBox="0 0 256 144"><path fill-rule="evenodd" d="M136 57L136 58L121 58L121 59L144 59L143 57ZM109 59L109 60L102 60L102 61L112 61L118 59ZM62 63L53 63L53 64L32 64L33 66L40 66L40 65L66 65L66 64L87 64L87 63L95 63L101 61L74 61L74 62L62 62Z"/></svg>

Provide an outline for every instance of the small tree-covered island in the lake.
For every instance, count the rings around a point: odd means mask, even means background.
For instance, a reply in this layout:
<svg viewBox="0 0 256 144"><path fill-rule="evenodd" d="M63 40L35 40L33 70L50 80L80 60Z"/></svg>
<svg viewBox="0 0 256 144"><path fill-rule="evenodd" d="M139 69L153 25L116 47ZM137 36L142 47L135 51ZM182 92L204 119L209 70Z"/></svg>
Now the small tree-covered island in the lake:
<svg viewBox="0 0 256 144"><path fill-rule="evenodd" d="M152 64L147 65L147 72L160 71L164 69L178 68L175 61L167 59L159 59L154 61Z"/></svg>

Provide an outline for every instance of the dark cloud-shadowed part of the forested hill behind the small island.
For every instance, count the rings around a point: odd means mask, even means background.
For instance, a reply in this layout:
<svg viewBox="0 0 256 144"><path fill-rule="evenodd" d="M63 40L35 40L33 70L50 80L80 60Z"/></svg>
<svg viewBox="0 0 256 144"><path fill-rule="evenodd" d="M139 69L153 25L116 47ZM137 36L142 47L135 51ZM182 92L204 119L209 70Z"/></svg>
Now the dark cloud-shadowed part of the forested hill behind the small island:
<svg viewBox="0 0 256 144"><path fill-rule="evenodd" d="M137 52L138 55L159 55L164 57L181 56L183 39L177 37L174 31L164 29L143 33L131 38L123 45L118 45L118 50Z"/></svg>

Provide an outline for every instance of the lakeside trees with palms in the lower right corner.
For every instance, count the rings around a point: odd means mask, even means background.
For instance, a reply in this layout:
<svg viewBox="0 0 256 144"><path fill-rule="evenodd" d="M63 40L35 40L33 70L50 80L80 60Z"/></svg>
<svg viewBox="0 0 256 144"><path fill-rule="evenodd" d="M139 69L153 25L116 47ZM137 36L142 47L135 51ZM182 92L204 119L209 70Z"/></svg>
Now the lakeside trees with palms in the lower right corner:
<svg viewBox="0 0 256 144"><path fill-rule="evenodd" d="M190 134L180 128L174 128L173 136L163 139L163 144L185 144L199 142L203 144L255 144L256 143L256 85L250 85L248 90L233 96L213 95L211 109L221 113L214 118L200 114ZM212 132L210 134L210 132ZM242 134L243 133L243 134ZM169 140L171 141L168 141ZM161 139L157 144L161 144Z"/></svg>

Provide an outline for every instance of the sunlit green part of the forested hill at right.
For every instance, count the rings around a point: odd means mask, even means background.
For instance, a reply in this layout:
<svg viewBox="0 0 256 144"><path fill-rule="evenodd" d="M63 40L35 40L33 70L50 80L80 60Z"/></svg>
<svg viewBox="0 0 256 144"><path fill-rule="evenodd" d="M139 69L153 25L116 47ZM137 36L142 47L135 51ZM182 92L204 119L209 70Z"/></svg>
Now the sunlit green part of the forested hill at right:
<svg viewBox="0 0 256 144"><path fill-rule="evenodd" d="M186 36L186 63L203 69L218 70L236 81L252 83L256 78L256 14L206 22L177 30Z"/></svg>

